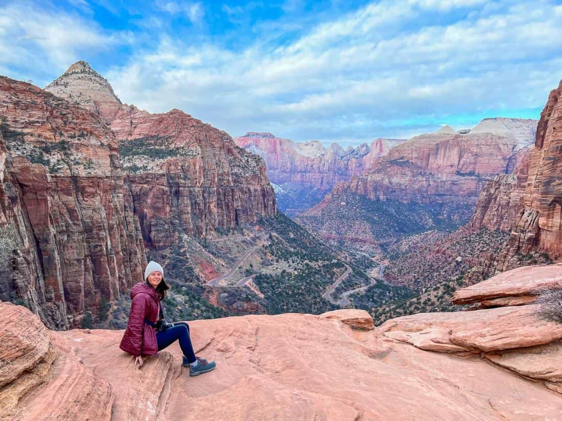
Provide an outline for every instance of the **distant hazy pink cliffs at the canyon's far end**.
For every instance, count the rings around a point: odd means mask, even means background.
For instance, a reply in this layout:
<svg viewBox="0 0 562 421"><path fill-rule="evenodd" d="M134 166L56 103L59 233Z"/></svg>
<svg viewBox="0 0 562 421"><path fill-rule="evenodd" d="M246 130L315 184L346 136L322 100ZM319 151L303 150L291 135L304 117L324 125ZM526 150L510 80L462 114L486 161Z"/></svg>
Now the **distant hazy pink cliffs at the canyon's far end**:
<svg viewBox="0 0 562 421"><path fill-rule="evenodd" d="M377 139L370 145L343 149L337 143L325 148L317 140L293 142L271 133L248 132L234 141L264 158L269 179L278 186L279 209L298 214L318 203L338 182L367 170L375 158L404 140Z"/></svg>

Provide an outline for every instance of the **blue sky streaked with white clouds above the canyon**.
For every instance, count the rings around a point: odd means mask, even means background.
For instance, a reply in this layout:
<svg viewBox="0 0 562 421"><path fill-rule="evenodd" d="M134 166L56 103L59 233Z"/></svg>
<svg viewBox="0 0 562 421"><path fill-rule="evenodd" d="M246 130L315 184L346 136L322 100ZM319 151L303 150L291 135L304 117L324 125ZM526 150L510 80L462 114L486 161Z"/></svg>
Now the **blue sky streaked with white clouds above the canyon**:
<svg viewBox="0 0 562 421"><path fill-rule="evenodd" d="M43 87L86 60L151 112L358 144L538 118L561 22L562 0L0 0L0 74Z"/></svg>

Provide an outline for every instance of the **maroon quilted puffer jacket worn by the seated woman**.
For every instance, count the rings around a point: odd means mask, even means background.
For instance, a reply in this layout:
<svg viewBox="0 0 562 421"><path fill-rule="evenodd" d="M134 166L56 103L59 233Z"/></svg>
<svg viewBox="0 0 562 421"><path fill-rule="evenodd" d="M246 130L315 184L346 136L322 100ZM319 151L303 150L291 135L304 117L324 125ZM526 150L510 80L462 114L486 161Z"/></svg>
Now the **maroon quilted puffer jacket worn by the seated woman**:
<svg viewBox="0 0 562 421"><path fill-rule="evenodd" d="M154 328L144 319L156 323L158 319L158 294L145 282L131 289L131 312L129 322L119 347L133 356L154 355L158 352Z"/></svg>

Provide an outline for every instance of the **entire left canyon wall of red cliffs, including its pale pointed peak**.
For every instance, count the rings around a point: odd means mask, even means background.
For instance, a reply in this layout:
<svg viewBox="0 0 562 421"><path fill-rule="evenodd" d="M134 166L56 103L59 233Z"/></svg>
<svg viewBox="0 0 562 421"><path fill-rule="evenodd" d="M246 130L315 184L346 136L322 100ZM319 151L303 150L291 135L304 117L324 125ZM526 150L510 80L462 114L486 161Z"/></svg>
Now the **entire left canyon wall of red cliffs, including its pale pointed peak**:
<svg viewBox="0 0 562 421"><path fill-rule="evenodd" d="M86 62L46 90L1 77L0 104L0 298L50 328L120 299L150 249L277 213L260 157L179 110L121 103Z"/></svg>

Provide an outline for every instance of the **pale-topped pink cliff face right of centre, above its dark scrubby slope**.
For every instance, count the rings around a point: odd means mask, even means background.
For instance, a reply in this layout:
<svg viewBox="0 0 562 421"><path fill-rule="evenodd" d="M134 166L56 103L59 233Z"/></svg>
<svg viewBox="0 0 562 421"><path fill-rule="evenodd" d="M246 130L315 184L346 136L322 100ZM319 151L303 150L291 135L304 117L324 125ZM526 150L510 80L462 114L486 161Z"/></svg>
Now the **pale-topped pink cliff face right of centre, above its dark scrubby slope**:
<svg viewBox="0 0 562 421"><path fill-rule="evenodd" d="M362 175L339 184L371 200L472 203L487 180L513 170L515 152L529 144L534 120L489 118L468 134L449 126L416 136L376 159Z"/></svg>

